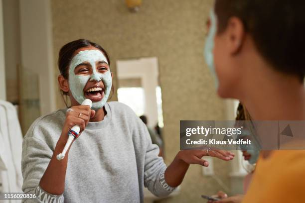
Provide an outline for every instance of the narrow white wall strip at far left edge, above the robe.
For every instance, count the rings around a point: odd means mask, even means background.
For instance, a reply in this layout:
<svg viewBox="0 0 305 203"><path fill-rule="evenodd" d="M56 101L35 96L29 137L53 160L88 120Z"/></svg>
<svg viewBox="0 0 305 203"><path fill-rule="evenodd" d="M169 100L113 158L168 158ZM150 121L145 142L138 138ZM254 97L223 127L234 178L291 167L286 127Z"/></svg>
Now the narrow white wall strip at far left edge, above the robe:
<svg viewBox="0 0 305 203"><path fill-rule="evenodd" d="M3 17L2 16L3 16L2 0L0 0L0 100L6 100Z"/></svg>

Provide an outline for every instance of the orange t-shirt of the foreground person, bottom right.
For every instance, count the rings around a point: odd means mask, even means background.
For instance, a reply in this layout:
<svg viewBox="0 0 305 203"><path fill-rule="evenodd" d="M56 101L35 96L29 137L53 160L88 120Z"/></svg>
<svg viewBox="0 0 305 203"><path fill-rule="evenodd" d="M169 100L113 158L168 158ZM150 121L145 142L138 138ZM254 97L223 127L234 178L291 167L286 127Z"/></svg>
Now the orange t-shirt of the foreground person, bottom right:
<svg viewBox="0 0 305 203"><path fill-rule="evenodd" d="M242 203L305 203L305 151L260 157Z"/></svg>

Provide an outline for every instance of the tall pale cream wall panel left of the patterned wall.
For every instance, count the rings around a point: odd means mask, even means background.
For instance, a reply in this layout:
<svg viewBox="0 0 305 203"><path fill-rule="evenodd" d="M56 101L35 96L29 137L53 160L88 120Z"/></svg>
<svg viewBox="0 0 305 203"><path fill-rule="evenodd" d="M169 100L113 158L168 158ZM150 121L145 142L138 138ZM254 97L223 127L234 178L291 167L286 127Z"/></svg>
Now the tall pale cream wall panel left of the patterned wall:
<svg viewBox="0 0 305 203"><path fill-rule="evenodd" d="M41 114L55 110L50 0L19 0L21 66L39 75Z"/></svg>

